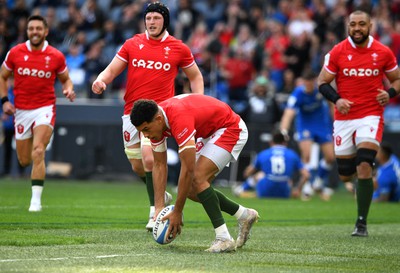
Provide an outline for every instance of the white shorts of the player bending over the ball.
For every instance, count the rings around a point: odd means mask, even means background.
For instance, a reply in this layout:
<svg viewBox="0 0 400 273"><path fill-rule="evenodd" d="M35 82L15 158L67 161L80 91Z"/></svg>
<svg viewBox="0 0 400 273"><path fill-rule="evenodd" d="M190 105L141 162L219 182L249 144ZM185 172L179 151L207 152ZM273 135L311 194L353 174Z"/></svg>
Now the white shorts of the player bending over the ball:
<svg viewBox="0 0 400 273"><path fill-rule="evenodd" d="M209 138L198 138L196 143L196 160L199 159L200 155L205 156L214 162L220 172L225 166L229 166L230 162L235 162L248 139L247 127L243 120L240 120L239 127L242 131L236 144L232 145L231 152L215 144L221 137L224 137L225 128L217 130Z"/></svg>

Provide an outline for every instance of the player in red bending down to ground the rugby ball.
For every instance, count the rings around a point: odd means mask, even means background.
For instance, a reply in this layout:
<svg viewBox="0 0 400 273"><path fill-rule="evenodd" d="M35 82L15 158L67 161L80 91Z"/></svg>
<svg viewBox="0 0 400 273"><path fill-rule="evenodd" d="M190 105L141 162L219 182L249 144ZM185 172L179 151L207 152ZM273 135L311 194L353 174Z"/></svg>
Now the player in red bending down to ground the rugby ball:
<svg viewBox="0 0 400 273"><path fill-rule="evenodd" d="M153 146L156 213L165 205L166 139L173 137L179 146L178 196L174 210L164 217L170 220L168 232L172 236L181 232L183 208L186 198L190 198L203 205L214 226L216 239L206 251L231 252L242 247L258 219L257 211L237 204L211 186L222 169L238 159L247 142L247 127L240 116L216 98L185 94L158 105L153 100L139 100L132 108L131 121ZM221 211L238 220L236 243Z"/></svg>

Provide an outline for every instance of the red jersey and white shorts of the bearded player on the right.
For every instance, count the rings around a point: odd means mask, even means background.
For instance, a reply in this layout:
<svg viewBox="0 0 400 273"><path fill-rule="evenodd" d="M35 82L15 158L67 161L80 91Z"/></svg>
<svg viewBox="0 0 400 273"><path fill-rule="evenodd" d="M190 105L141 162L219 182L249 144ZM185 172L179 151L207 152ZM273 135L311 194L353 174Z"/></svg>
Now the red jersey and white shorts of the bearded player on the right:
<svg viewBox="0 0 400 273"><path fill-rule="evenodd" d="M353 102L346 115L335 108L336 154L354 154L354 145L365 139L381 142L384 108L376 101L377 89L384 89L385 73L397 67L393 52L372 36L366 47L357 47L348 37L325 56L324 68L336 75L338 94Z"/></svg>

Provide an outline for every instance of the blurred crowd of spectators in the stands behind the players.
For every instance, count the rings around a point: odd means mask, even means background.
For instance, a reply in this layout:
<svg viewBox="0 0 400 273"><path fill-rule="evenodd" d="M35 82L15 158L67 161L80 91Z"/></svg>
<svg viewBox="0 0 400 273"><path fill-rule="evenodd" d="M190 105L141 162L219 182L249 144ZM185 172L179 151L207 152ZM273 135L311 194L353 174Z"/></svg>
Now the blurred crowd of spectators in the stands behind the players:
<svg viewBox="0 0 400 273"><path fill-rule="evenodd" d="M49 24L50 44L66 55L78 97L119 98L125 74L100 96L90 86L124 41L144 31L148 2L0 0L1 62L12 46L27 40L27 17L40 14ZM345 18L356 8L371 13L371 35L400 60L399 0L161 2L170 9L170 34L183 40L195 56L205 93L228 102L245 120L251 113L265 114L271 103L283 109L302 72L320 71L324 55L347 36ZM176 93L185 92L189 83L179 76ZM279 114L271 122L278 120Z"/></svg>

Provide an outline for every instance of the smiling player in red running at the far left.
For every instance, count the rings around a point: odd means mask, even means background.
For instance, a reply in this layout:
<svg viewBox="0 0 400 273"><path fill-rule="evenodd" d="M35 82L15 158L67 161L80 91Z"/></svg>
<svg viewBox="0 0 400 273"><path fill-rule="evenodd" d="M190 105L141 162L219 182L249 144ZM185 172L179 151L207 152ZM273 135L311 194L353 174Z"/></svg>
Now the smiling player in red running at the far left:
<svg viewBox="0 0 400 273"><path fill-rule="evenodd" d="M10 49L0 72L0 97L4 113L15 115L17 156L22 166L32 163L32 199L29 211L42 210L42 191L46 176L45 151L53 134L56 118L56 78L63 94L74 101L75 92L65 56L49 45L46 20L39 15L28 18L28 41ZM7 97L7 80L14 76L14 105Z"/></svg>

